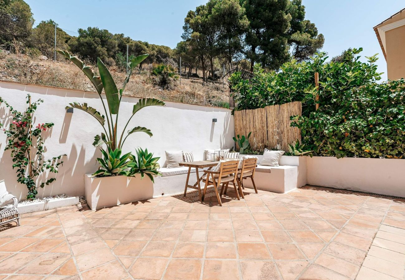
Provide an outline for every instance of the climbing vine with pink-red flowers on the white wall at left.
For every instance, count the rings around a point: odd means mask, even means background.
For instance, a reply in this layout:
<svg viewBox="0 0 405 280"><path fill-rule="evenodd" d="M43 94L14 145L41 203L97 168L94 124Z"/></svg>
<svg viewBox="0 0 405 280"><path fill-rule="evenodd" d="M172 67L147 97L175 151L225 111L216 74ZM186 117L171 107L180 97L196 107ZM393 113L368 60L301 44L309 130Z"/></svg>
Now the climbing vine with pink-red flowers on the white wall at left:
<svg viewBox="0 0 405 280"><path fill-rule="evenodd" d="M25 112L19 112L0 97L0 103L10 109L13 119L8 129L0 123L1 129L7 136L7 143L4 150L11 150L13 158L13 169L16 169L17 181L28 188L27 199L34 199L38 194L38 187L45 187L55 181L54 177L48 178L44 182L38 182L38 177L47 172L58 173L61 160L65 155L43 159L45 152L42 133L53 126L53 123L34 123L34 112L43 100L31 102L31 96L27 95L28 108ZM41 176L42 177L42 176ZM46 177L46 176L45 176Z"/></svg>

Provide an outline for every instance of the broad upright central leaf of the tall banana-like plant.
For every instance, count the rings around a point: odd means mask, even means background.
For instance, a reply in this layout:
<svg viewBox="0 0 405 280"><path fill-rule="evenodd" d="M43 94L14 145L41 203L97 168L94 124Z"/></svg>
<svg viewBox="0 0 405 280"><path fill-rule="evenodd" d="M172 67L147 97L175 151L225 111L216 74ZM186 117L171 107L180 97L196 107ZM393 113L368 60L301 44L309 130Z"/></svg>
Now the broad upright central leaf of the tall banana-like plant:
<svg viewBox="0 0 405 280"><path fill-rule="evenodd" d="M118 89L115 85L114 79L111 76L110 71L104 65L100 58L97 59L98 71L100 72L100 77L102 85L104 87L105 95L107 96L107 103L110 109L110 113L113 115L118 114L119 109L119 96Z"/></svg>

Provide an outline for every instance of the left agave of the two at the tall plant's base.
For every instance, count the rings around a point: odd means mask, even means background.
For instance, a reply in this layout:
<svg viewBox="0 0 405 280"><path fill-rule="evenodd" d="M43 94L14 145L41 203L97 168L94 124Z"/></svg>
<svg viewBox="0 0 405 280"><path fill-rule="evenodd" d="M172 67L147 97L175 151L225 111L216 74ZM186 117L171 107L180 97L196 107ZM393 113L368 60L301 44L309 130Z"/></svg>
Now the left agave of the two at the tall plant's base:
<svg viewBox="0 0 405 280"><path fill-rule="evenodd" d="M98 163L100 163L100 168L94 172L93 176L104 177L128 174L131 163L128 159L131 153L121 156L121 150L119 148L111 150L109 146L107 146L107 152L101 150L101 153L103 157L97 158Z"/></svg>

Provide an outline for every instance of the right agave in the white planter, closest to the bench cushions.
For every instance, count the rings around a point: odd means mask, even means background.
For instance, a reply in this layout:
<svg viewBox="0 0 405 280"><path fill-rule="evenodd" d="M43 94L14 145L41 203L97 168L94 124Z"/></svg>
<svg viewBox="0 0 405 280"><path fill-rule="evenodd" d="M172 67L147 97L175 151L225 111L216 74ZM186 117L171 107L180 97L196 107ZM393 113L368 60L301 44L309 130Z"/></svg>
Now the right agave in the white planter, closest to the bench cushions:
<svg viewBox="0 0 405 280"><path fill-rule="evenodd" d="M128 176L135 176L136 174L141 174L141 179L143 176L148 176L152 182L153 175L162 175L159 173L158 168L159 163L158 160L160 157L153 157L152 153L148 153L148 149L143 151L141 148L136 150L136 156L130 156L131 163L130 163L130 172L128 172Z"/></svg>

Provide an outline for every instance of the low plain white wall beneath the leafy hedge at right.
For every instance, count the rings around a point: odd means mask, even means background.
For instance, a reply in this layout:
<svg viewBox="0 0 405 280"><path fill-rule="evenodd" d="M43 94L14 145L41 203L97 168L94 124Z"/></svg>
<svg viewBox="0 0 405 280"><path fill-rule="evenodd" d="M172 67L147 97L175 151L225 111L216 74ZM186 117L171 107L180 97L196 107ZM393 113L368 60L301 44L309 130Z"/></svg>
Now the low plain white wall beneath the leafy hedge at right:
<svg viewBox="0 0 405 280"><path fill-rule="evenodd" d="M405 160L307 157L307 181L315 186L405 197Z"/></svg>

